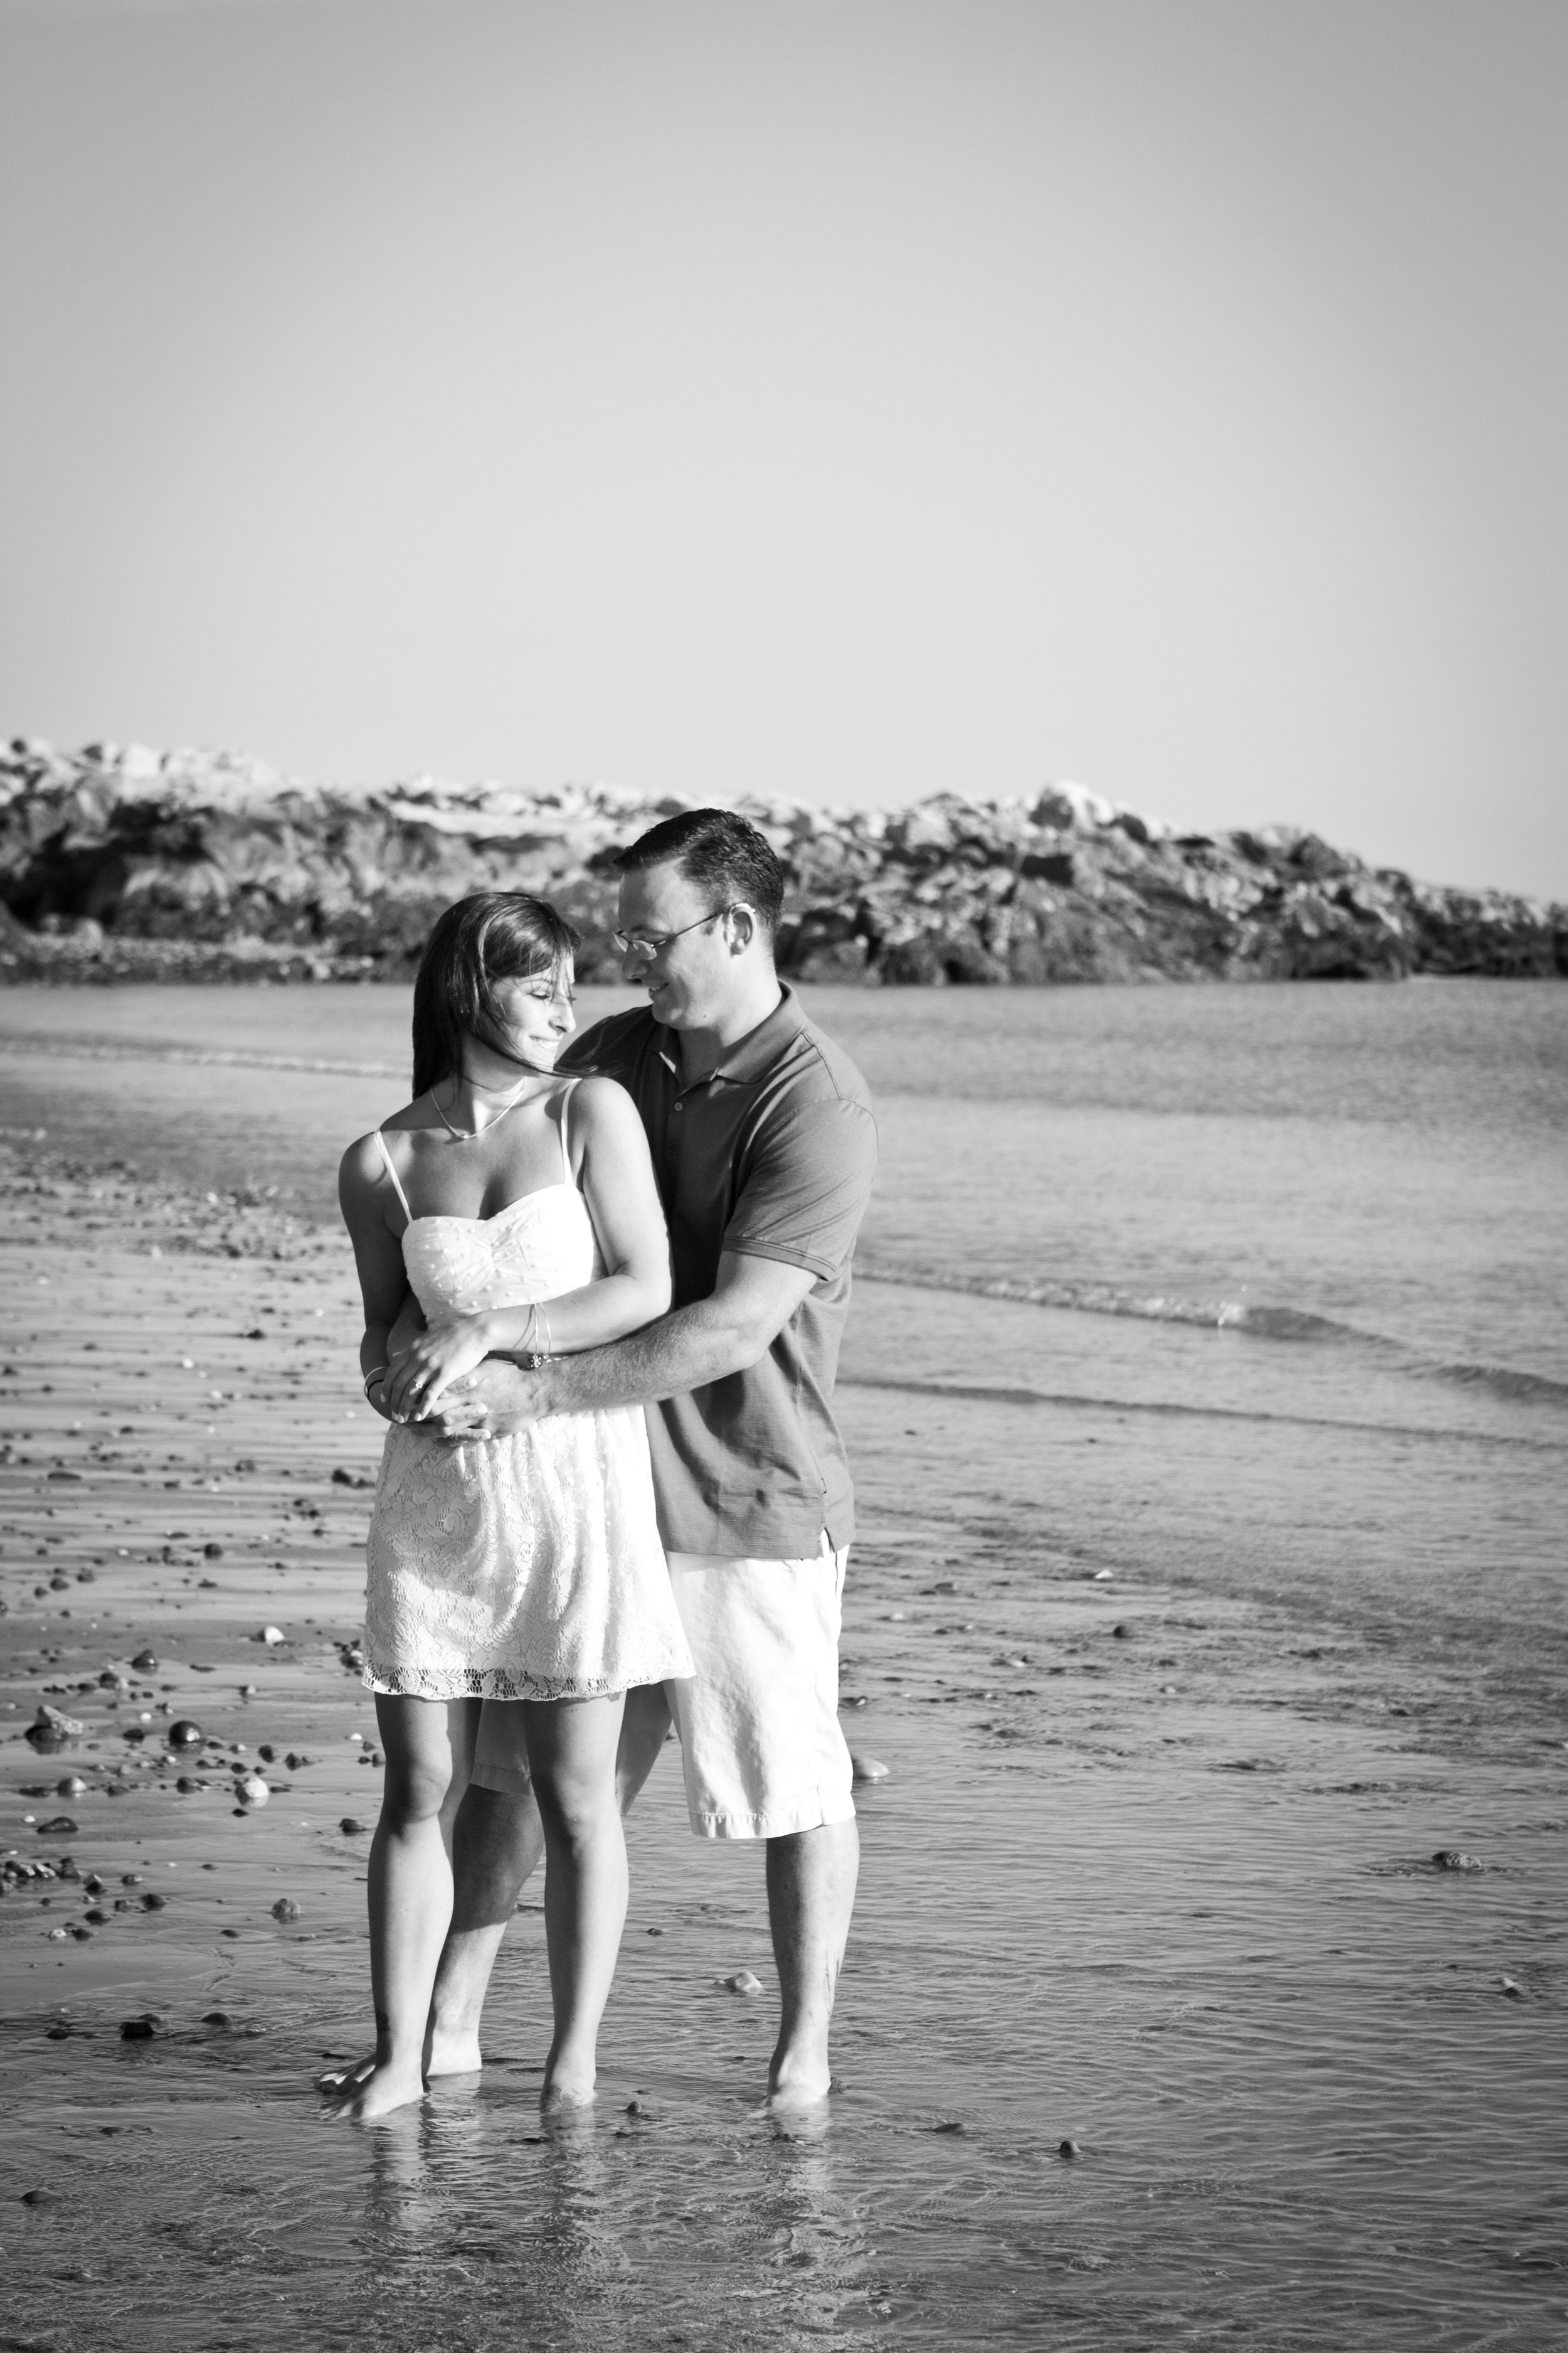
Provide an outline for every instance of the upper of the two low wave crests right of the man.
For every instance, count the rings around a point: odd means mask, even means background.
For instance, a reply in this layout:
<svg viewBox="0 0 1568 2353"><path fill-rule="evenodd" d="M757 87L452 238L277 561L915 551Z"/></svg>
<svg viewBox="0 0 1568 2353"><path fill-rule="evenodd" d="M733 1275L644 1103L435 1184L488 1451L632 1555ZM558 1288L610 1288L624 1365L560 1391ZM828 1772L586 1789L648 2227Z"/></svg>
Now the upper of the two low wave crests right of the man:
<svg viewBox="0 0 1568 2353"><path fill-rule="evenodd" d="M966 1275L950 1266L903 1259L856 1257L863 1282L903 1282L922 1292L964 1292L971 1299L1011 1299L1034 1308L1074 1308L1081 1315L1133 1315L1145 1322L1199 1325L1208 1332L1241 1332L1246 1339L1335 1344L1380 1355L1392 1369L1425 1381L1458 1381L1495 1398L1568 1407L1568 1381L1512 1365L1467 1365L1410 1348L1406 1341L1314 1315L1307 1308L1248 1306L1241 1299L1182 1299L1168 1292L1131 1292L1114 1282L1070 1282L1056 1275Z"/></svg>

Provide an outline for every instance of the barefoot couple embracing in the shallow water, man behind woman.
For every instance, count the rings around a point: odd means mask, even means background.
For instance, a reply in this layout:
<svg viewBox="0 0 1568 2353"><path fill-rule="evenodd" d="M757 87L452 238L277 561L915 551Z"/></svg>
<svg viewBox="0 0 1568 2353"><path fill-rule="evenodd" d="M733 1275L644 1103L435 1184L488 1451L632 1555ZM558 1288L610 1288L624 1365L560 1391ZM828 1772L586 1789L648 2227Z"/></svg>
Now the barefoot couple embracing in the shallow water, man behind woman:
<svg viewBox="0 0 1568 2353"><path fill-rule="evenodd" d="M360 2122L480 2066L541 1852L541 2104L592 2099L621 1817L670 1720L693 1833L766 1840L769 2099L827 2094L858 1868L832 1381L877 1132L776 976L764 835L693 809L618 868L646 1009L574 1040L571 927L463 899L414 986L414 1101L343 1158L364 1393L390 1424L364 1628L376 2052L324 2080Z"/></svg>

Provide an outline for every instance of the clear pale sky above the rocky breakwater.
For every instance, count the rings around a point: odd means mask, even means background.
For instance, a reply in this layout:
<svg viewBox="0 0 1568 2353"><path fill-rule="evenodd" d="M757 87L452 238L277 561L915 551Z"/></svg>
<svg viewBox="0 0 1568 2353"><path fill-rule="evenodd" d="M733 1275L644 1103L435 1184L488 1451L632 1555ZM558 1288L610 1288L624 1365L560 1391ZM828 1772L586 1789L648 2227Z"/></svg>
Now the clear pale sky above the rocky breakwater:
<svg viewBox="0 0 1568 2353"><path fill-rule="evenodd" d="M0 734L1568 899L1561 0L0 0Z"/></svg>

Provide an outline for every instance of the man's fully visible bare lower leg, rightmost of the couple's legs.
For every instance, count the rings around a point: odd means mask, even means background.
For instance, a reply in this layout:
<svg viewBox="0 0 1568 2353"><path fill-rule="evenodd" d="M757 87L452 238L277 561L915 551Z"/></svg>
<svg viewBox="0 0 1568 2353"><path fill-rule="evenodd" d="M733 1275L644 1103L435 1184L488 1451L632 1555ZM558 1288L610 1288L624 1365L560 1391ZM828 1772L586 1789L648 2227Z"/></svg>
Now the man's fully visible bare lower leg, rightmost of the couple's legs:
<svg viewBox="0 0 1568 2353"><path fill-rule="evenodd" d="M827 2026L860 1875L851 1821L769 1838L769 1927L778 1965L778 2045L769 2106L806 2108L827 2097Z"/></svg>

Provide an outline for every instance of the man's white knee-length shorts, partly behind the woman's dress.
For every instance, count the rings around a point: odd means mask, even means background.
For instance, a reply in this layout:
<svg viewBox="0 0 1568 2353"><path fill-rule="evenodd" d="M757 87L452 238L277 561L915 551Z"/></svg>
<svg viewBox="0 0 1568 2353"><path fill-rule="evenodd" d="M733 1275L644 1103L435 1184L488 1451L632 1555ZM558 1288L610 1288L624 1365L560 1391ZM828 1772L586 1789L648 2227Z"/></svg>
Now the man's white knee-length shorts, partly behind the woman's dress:
<svg viewBox="0 0 1568 2353"><path fill-rule="evenodd" d="M839 1729L839 1621L849 1553L813 1560L670 1553L696 1675L665 1682L698 1838L785 1838L851 1821ZM487 1699L473 1779L524 1791L517 1701Z"/></svg>

